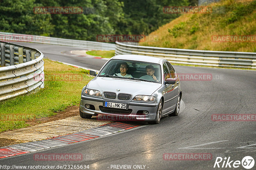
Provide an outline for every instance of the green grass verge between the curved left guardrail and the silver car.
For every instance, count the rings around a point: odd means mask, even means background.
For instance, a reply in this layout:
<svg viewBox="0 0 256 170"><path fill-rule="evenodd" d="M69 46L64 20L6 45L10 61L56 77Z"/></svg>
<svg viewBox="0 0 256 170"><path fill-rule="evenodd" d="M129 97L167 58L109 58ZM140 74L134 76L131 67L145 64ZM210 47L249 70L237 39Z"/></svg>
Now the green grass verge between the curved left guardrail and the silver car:
<svg viewBox="0 0 256 170"><path fill-rule="evenodd" d="M44 59L44 89L0 102L0 132L28 126L26 121L56 115L79 105L89 70Z"/></svg>

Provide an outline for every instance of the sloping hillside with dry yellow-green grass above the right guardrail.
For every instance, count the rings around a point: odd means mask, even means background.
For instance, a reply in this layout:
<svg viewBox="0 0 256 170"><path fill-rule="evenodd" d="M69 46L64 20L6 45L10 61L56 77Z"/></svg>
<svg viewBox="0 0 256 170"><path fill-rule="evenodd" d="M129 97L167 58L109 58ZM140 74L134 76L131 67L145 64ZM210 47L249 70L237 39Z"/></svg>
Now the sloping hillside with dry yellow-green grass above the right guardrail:
<svg viewBox="0 0 256 170"><path fill-rule="evenodd" d="M213 35L256 35L256 1L222 0L213 3L224 8L222 13L183 14L149 34L154 37L140 42L142 46L158 46L215 51L256 52L256 40L251 42L213 42ZM172 15L172 14L169 14ZM147 39L151 41L147 41Z"/></svg>

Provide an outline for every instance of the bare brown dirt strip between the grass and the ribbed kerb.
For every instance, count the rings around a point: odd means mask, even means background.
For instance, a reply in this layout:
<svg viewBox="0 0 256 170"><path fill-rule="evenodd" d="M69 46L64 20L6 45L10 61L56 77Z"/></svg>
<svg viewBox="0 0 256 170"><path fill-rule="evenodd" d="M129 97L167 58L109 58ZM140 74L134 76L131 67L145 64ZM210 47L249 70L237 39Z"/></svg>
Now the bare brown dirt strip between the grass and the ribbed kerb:
<svg viewBox="0 0 256 170"><path fill-rule="evenodd" d="M60 120L60 119L77 116L77 115L79 115L79 106L69 106L67 109L65 109L65 111L60 111L57 113L57 115L54 115L52 117L41 117L38 119L28 121L26 123L29 124L29 126L34 126L37 124L43 124L43 123L51 122L54 120ZM13 140L13 139L0 138L0 147L19 144L19 143L22 143L22 142Z"/></svg>

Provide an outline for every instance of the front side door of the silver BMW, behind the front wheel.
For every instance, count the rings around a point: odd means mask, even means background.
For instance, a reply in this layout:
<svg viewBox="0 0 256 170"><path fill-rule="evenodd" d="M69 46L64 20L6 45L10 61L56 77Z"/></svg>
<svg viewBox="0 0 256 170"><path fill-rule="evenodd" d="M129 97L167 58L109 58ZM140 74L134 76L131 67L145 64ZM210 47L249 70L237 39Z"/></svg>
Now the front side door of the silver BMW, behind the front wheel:
<svg viewBox="0 0 256 170"><path fill-rule="evenodd" d="M163 63L163 71L164 71L164 105L163 105L163 114L165 112L168 112L172 107L175 106L173 103L173 97L174 97L174 87L172 84L168 84L166 79L171 78L169 68L167 66L167 62Z"/></svg>

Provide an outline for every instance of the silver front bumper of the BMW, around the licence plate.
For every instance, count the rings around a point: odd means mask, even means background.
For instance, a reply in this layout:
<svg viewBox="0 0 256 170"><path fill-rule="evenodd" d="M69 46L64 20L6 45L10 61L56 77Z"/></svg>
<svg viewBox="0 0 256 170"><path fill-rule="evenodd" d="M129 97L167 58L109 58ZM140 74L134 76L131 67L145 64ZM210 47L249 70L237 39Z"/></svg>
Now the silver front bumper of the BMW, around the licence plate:
<svg viewBox="0 0 256 170"><path fill-rule="evenodd" d="M115 103L127 103L128 109L132 109L132 113L130 114L120 114L120 113L108 113L100 110L100 107L103 107L103 103L107 102L115 102ZM91 104L95 107L95 110L86 109L85 104ZM142 102L120 102L107 100L103 98L90 97L90 96L81 96L81 104L80 110L86 114L91 115L106 115L106 116L114 116L114 117L122 117L124 119L120 120L136 120L136 121L151 121L156 118L158 103L142 103ZM110 108L111 109L111 108ZM149 112L148 115L137 115L139 110L147 110Z"/></svg>

